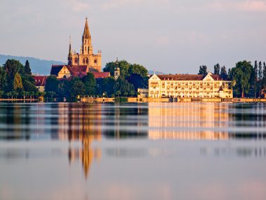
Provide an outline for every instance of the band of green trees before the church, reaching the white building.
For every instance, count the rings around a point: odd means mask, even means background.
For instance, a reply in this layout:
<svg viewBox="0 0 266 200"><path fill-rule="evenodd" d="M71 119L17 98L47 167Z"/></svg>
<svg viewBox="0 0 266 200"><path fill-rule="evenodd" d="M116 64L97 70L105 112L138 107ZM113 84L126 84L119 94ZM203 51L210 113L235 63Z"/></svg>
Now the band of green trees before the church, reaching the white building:
<svg viewBox="0 0 266 200"><path fill-rule="evenodd" d="M115 80L115 68L120 68L120 77ZM93 73L86 76L72 77L68 80L58 80L49 76L46 80L45 92L51 97L65 97L69 101L77 101L77 96L136 96L137 88L148 87L148 70L142 65L127 61L106 63L104 72L110 72L110 77L95 79Z"/></svg>

